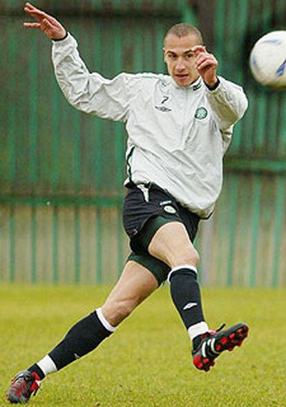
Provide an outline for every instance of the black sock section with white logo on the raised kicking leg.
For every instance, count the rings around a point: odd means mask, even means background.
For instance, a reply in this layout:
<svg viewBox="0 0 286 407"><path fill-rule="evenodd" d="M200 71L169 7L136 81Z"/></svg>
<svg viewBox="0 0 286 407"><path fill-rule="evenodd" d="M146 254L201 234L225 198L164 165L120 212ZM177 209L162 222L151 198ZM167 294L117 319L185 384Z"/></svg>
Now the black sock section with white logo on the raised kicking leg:
<svg viewBox="0 0 286 407"><path fill-rule="evenodd" d="M171 272L170 289L173 303L187 329L204 321L197 274L193 269L182 267Z"/></svg>

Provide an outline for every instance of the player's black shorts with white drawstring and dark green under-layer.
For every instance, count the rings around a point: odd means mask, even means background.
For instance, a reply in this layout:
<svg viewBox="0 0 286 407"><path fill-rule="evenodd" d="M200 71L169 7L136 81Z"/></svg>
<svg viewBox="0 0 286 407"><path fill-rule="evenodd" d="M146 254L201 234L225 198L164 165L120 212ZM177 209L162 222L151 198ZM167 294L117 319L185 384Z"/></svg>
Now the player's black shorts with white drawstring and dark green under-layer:
<svg viewBox="0 0 286 407"><path fill-rule="evenodd" d="M157 278L158 283L166 280L169 265L151 256L148 246L155 232L164 223L181 222L186 227L191 242L196 237L200 218L182 207L173 196L156 184L126 185L123 223L130 238L132 249L128 260L144 265Z"/></svg>

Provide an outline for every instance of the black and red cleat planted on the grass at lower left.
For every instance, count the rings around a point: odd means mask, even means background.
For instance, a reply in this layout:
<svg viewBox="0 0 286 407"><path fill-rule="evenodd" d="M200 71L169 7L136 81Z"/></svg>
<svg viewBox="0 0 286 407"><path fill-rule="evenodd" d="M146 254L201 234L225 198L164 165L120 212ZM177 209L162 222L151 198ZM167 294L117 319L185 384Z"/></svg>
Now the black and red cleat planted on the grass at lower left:
<svg viewBox="0 0 286 407"><path fill-rule="evenodd" d="M29 401L32 393L39 390L41 379L35 372L23 370L12 379L11 386L6 394L8 401L12 404L23 404Z"/></svg>

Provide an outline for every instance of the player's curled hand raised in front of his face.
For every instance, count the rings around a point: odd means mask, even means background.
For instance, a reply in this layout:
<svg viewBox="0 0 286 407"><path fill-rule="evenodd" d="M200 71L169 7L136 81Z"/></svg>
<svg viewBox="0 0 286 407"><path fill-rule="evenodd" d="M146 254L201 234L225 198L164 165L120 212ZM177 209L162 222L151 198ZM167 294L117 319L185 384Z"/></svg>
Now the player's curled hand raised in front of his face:
<svg viewBox="0 0 286 407"><path fill-rule="evenodd" d="M202 45L194 46L191 49L196 56L196 67L198 73L204 79L204 82L213 86L218 81L216 71L218 69L218 61L214 55L209 54L206 48Z"/></svg>

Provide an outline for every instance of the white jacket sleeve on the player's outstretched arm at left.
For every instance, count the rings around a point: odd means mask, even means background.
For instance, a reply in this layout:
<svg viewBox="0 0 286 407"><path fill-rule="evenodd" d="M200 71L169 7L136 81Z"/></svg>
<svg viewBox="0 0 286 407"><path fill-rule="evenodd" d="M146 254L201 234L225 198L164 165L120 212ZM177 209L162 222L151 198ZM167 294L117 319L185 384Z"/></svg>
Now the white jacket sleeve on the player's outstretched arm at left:
<svg viewBox="0 0 286 407"><path fill-rule="evenodd" d="M106 79L90 73L70 34L53 42L52 59L59 87L72 106L102 118L126 121L133 75L121 73Z"/></svg>

